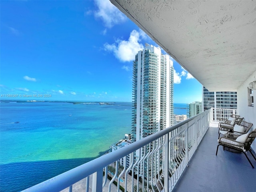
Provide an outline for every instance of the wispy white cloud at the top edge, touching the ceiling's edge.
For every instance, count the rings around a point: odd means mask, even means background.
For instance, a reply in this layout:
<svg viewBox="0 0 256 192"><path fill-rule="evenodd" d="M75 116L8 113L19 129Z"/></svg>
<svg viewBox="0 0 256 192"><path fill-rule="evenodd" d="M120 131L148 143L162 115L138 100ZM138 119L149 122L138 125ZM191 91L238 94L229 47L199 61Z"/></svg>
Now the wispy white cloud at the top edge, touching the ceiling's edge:
<svg viewBox="0 0 256 192"><path fill-rule="evenodd" d="M94 2L98 7L98 10L94 12L94 16L102 19L107 28L112 28L112 26L126 21L127 17L109 0L95 0Z"/></svg>

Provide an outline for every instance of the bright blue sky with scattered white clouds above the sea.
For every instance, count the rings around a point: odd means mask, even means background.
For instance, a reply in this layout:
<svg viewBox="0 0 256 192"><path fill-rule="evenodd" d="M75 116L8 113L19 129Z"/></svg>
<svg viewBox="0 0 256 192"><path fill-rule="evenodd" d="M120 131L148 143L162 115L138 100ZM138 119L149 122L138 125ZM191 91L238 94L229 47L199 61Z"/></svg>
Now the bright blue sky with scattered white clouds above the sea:
<svg viewBox="0 0 256 192"><path fill-rule="evenodd" d="M0 99L132 101L132 61L158 46L108 0L1 1ZM174 61L174 102L202 85Z"/></svg>

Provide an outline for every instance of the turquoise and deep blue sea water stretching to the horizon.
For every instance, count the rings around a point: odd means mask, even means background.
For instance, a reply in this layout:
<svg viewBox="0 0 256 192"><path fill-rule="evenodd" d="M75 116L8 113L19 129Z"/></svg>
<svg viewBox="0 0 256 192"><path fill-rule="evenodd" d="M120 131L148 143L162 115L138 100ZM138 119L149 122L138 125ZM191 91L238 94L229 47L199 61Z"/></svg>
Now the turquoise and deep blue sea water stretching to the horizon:
<svg viewBox="0 0 256 192"><path fill-rule="evenodd" d="M186 114L186 104L174 104ZM0 191L17 192L93 160L131 132L132 103L1 102Z"/></svg>

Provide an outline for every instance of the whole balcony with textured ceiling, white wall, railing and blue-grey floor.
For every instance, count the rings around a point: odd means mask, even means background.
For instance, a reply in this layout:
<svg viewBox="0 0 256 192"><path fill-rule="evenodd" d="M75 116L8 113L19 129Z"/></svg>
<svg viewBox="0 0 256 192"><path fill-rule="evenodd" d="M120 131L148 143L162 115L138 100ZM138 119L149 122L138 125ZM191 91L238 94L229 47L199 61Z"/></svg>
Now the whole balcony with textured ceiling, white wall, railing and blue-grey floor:
<svg viewBox="0 0 256 192"><path fill-rule="evenodd" d="M209 91L237 92L237 111L221 109L221 114L228 116L238 113L246 121L252 122L255 128L256 107L248 104L247 92L248 85L256 81L255 1L111 2ZM255 93L254 89L254 97ZM214 107L214 103L212 105ZM132 191L136 185L165 192L253 192L256 188L256 171L243 154L219 149L218 156L215 155L218 122L213 119L218 120L217 114L218 111L207 110L27 191L84 189L99 192L116 191L120 186ZM134 157L136 150L142 152L150 143L149 153ZM252 149L256 150L255 141ZM143 165L149 156L156 155L160 150L163 150L163 164L156 177L142 183L140 179L133 179L137 173L136 165ZM133 164L118 174L116 163L113 179L108 181L106 174L102 179L103 172L108 172L109 164L121 158L126 161L127 155ZM248 157L256 166L252 156L248 154ZM142 169L147 166L144 164ZM128 176L130 172L131 177ZM145 178L145 175L141 178ZM117 186L114 186L114 180Z"/></svg>

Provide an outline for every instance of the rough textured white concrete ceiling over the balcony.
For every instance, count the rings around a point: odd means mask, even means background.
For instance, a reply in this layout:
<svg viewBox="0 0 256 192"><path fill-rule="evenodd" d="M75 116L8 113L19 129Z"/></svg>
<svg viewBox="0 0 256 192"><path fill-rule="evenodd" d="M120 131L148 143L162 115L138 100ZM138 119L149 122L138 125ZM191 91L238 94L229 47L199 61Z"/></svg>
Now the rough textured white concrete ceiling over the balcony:
<svg viewBox="0 0 256 192"><path fill-rule="evenodd" d="M210 91L256 71L256 1L110 1Z"/></svg>

